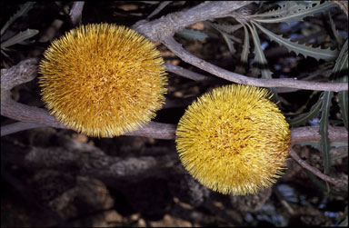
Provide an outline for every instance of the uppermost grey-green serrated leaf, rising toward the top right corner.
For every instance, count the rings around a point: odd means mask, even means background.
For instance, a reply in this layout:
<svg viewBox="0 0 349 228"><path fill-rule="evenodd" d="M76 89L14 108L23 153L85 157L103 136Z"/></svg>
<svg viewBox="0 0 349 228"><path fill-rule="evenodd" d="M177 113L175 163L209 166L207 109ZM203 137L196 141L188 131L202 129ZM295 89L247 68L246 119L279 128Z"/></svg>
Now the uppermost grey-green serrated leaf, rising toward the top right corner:
<svg viewBox="0 0 349 228"><path fill-rule="evenodd" d="M312 16L316 13L323 12L327 9L330 9L332 7L336 7L337 5L333 2L324 2L323 4L314 5L314 6L306 6L304 9L301 9L297 12L294 12L292 14L284 15L282 17L277 18L267 18L267 19L256 19L254 18L254 21L261 22L261 23L291 23L296 21L303 21L303 18L305 16Z"/></svg>

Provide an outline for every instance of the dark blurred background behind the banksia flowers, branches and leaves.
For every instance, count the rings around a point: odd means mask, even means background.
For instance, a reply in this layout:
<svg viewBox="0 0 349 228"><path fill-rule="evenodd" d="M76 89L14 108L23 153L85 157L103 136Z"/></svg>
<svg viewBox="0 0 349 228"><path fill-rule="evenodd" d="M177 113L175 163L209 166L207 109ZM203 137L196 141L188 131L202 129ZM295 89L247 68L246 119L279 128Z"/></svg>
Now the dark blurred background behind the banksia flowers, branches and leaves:
<svg viewBox="0 0 349 228"><path fill-rule="evenodd" d="M162 15L193 7L201 2L174 2L167 5ZM1 25L15 14L23 2L1 2ZM27 28L39 30L30 44L13 45L2 55L1 68L7 68L33 56L41 57L50 41L40 40L45 35L53 38L73 28L69 16L70 2L36 2L29 13L11 25L1 41ZM148 2L85 2L83 24L115 23L134 25L145 19L157 4ZM255 11L258 5L251 5ZM273 5L265 4L270 8ZM347 19L339 8L331 10L336 29L347 38ZM47 34L55 20L63 25L54 34ZM234 19L219 19L223 24L236 24ZM175 39L184 48L204 60L234 71L239 63L242 45L235 43L236 55L229 53L224 39L212 28L198 23L191 26L215 33L217 38L201 41ZM306 17L303 23L266 25L275 34L293 37L309 45L336 47L328 15ZM244 39L243 29L234 35ZM313 35L311 38L305 38ZM289 53L284 47L270 42L260 34L264 54L273 77L297 77L328 81L334 62L325 63L314 58ZM251 44L253 42L251 41ZM205 74L169 52L164 45L155 44L165 62L178 64ZM251 48L251 52L253 48ZM253 59L254 55L250 55ZM316 72L317 74L314 74ZM249 74L249 73L247 73ZM206 74L208 75L208 74ZM194 82L175 74L168 74L166 98L184 104L164 108L154 121L177 124L187 104L197 96L222 84L223 79ZM16 101L44 107L40 100L37 80L16 86ZM286 117L309 110L319 92L300 90L279 94ZM339 107L334 99L330 119L338 121ZM14 120L1 117L1 124ZM316 119L308 124L318 124ZM318 150L311 146L294 148L310 164L322 170ZM343 149L343 148L342 148ZM347 148L344 148L347 151ZM338 152L338 150L333 153ZM347 190L330 187L311 173L306 173L292 159L288 169L273 188L250 196L214 193L185 172L178 159L174 140L119 136L98 139L74 131L38 128L9 134L1 138L1 225L27 226L237 226L237 225L338 225L347 213ZM88 164L88 165L87 165ZM333 164L334 173L347 179L347 156Z"/></svg>

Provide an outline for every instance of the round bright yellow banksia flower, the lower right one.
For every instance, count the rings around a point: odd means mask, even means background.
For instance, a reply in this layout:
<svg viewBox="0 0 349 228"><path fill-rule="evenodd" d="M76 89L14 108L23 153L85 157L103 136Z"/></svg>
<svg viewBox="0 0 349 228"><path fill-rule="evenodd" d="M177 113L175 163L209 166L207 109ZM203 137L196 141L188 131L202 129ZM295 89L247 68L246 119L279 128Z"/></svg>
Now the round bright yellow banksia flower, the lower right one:
<svg viewBox="0 0 349 228"><path fill-rule="evenodd" d="M271 96L263 88L233 84L199 97L176 130L185 169L219 193L257 193L275 183L291 134Z"/></svg>

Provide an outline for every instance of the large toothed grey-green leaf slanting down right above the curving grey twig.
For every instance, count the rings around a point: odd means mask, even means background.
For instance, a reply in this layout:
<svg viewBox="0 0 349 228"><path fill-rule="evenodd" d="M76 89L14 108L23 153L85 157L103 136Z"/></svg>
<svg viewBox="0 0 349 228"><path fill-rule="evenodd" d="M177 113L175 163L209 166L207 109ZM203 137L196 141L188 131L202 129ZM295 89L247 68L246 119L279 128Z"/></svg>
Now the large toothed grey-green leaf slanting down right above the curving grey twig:
<svg viewBox="0 0 349 228"><path fill-rule="evenodd" d="M304 55L304 57L311 56L314 57L316 60L324 59L325 61L331 61L338 56L337 50L331 50L330 48L322 49L321 47L300 45L296 42L292 42L291 39L283 38L282 35L275 35L273 32L269 31L268 29L264 28L262 25L259 25L258 23L253 24L256 25L259 29L261 29L265 35L268 35L270 40L273 40L279 45L283 45L287 48L289 52L294 52L296 55L302 54Z"/></svg>

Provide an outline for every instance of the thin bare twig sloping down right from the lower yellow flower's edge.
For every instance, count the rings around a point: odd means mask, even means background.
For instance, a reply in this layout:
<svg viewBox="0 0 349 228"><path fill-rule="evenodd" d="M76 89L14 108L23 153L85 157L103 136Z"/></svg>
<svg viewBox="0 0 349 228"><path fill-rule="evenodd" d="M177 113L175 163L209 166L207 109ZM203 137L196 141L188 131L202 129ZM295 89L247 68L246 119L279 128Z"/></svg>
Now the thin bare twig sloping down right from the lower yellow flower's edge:
<svg viewBox="0 0 349 228"><path fill-rule="evenodd" d="M309 170L310 172L314 173L314 175L323 179L324 181L326 181L328 183L332 183L332 184L334 184L334 186L337 186L337 187L342 187L344 185L348 185L348 183L346 183L345 181L328 176L328 175L325 175L324 173L322 173L320 170L316 169L312 165L307 164L300 156L298 156L298 154L296 154L294 152L293 149L291 149L291 151L290 151L290 156L294 159L295 162L297 162L302 167L304 167L304 169Z"/></svg>

